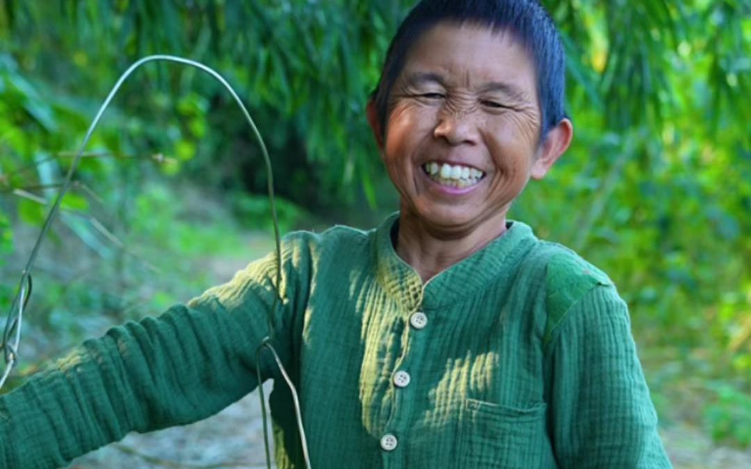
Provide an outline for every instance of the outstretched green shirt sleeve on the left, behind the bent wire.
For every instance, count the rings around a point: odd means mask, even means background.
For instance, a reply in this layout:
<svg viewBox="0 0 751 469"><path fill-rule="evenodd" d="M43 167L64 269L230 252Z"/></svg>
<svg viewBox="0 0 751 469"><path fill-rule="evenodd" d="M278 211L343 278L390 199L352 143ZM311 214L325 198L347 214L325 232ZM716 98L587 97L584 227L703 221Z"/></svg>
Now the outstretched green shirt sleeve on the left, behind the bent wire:
<svg viewBox="0 0 751 469"><path fill-rule="evenodd" d="M273 255L251 263L188 305L84 342L0 396L0 467L65 466L129 431L195 422L252 391L275 275ZM285 338L288 301L276 309L275 338ZM289 344L274 347L288 362ZM276 371L268 355L264 377Z"/></svg>

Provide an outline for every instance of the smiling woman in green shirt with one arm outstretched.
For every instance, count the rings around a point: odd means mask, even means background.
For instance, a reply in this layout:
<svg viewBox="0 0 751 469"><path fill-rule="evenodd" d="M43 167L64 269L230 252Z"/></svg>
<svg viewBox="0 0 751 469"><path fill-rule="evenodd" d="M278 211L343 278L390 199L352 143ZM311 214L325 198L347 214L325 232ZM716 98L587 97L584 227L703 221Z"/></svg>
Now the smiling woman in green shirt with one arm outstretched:
<svg viewBox="0 0 751 469"><path fill-rule="evenodd" d="M424 0L400 27L367 106L400 212L282 246L273 345L312 467L670 467L615 287L506 218L572 139L564 71L532 0ZM275 274L252 263L3 396L3 467L66 464L255 389ZM303 467L291 395L270 401L277 464Z"/></svg>

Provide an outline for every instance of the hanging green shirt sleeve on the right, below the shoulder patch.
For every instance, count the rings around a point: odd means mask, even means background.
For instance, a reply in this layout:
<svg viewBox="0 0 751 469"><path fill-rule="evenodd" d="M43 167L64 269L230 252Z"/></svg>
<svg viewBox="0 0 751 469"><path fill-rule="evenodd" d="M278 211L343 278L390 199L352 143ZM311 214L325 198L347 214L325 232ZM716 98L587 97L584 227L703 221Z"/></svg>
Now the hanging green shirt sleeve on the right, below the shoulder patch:
<svg viewBox="0 0 751 469"><path fill-rule="evenodd" d="M550 428L560 467L671 467L632 338L626 303L598 285L550 342Z"/></svg>

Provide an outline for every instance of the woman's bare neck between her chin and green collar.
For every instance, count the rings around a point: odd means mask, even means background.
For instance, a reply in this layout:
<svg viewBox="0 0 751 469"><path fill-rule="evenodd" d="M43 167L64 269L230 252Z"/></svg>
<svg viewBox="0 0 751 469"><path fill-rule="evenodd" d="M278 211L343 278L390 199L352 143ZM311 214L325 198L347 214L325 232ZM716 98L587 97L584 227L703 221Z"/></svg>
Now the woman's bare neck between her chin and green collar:
<svg viewBox="0 0 751 469"><path fill-rule="evenodd" d="M395 246L397 254L427 282L505 233L505 212L466 233L446 233L426 226L418 217L403 210Z"/></svg>

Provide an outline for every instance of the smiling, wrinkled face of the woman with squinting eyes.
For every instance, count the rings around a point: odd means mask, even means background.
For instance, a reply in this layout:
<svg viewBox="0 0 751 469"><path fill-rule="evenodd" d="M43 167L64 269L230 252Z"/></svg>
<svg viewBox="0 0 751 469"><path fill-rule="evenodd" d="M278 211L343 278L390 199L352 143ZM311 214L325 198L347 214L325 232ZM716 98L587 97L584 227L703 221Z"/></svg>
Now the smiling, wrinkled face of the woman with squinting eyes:
<svg viewBox="0 0 751 469"><path fill-rule="evenodd" d="M535 68L509 34L439 23L412 47L390 100L382 158L403 212L438 233L497 232L552 164L537 158Z"/></svg>

